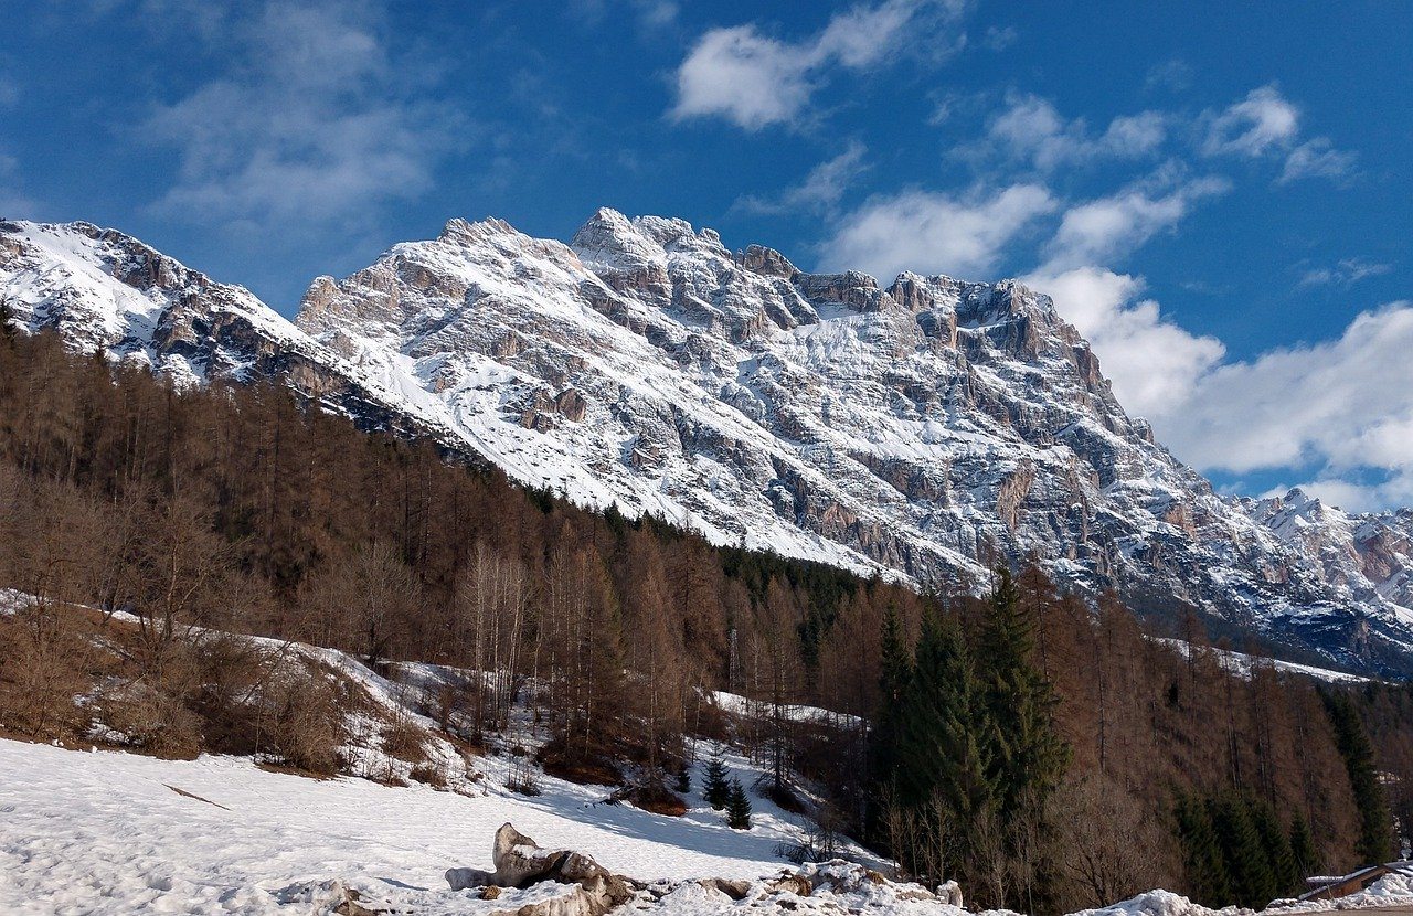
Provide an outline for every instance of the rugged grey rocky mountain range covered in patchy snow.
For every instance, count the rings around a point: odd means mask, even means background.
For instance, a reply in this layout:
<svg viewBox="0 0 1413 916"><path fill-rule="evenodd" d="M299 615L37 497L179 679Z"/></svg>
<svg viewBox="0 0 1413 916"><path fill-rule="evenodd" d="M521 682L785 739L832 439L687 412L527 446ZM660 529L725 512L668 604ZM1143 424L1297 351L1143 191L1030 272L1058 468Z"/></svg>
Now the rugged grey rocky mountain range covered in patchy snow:
<svg viewBox="0 0 1413 916"><path fill-rule="evenodd" d="M319 277L294 324L120 233L8 222L0 297L75 346L179 379L284 379L719 543L974 588L1033 556L1142 611L1413 670L1413 515L1215 493L1015 281L880 287L603 209L568 245L454 219Z"/></svg>

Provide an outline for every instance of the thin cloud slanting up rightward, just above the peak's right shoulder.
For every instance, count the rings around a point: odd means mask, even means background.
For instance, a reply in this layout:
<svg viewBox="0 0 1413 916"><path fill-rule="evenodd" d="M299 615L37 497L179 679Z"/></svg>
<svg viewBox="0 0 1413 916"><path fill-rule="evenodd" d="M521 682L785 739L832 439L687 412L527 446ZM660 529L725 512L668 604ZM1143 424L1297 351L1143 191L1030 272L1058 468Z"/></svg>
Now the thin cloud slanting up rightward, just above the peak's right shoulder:
<svg viewBox="0 0 1413 916"><path fill-rule="evenodd" d="M1171 170L1163 170L1125 191L1070 208L1046 246L1047 260L1037 273L1056 276L1109 263L1176 226L1197 201L1228 188L1222 178L1173 178Z"/></svg>

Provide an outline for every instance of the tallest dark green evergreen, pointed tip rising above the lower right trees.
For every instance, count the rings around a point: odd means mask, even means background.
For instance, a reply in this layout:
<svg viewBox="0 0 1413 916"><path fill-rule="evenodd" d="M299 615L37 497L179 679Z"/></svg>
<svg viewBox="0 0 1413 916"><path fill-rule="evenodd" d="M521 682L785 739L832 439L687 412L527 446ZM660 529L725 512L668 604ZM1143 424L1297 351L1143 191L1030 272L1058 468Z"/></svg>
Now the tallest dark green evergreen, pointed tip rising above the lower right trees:
<svg viewBox="0 0 1413 916"><path fill-rule="evenodd" d="M1010 571L996 570L981 640L986 711L995 724L991 780L1002 821L1036 817L1070 765L1054 728L1054 687L1033 663L1034 622Z"/></svg>

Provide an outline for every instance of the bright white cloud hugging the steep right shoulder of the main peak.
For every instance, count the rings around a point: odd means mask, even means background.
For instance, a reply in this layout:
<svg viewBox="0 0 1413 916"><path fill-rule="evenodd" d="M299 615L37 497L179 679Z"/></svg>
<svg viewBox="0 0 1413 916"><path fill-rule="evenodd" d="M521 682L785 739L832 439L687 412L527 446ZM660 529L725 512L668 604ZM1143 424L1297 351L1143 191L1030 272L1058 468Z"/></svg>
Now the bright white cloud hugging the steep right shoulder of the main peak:
<svg viewBox="0 0 1413 916"><path fill-rule="evenodd" d="M1102 267L1056 276L1031 274L1027 286L1047 293L1065 321L1089 341L1113 394L1135 416L1161 414L1187 400L1226 348L1167 321L1159 304L1139 298L1142 278Z"/></svg>

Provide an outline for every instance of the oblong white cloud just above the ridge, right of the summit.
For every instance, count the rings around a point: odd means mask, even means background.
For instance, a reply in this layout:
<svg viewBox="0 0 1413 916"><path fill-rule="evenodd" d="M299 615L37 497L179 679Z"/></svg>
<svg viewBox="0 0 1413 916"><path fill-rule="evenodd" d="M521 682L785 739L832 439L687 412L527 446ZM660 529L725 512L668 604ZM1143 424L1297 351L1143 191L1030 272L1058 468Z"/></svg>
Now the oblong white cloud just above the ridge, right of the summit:
<svg viewBox="0 0 1413 916"><path fill-rule="evenodd" d="M1017 233L1054 208L1050 192L1034 184L961 198L928 191L873 198L839 219L820 263L885 281L904 270L985 274Z"/></svg>

